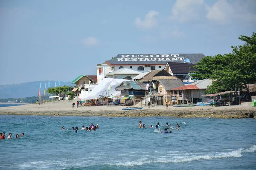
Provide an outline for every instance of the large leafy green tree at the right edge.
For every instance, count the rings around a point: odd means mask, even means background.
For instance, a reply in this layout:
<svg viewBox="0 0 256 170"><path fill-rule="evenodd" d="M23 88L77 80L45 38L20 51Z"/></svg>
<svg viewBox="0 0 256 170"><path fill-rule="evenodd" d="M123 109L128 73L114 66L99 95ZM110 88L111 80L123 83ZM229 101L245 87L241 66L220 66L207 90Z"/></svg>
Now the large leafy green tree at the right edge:
<svg viewBox="0 0 256 170"><path fill-rule="evenodd" d="M193 79L214 79L208 94L247 87L256 81L256 33L251 37L240 35L244 45L232 46L232 54L205 57L194 68Z"/></svg>

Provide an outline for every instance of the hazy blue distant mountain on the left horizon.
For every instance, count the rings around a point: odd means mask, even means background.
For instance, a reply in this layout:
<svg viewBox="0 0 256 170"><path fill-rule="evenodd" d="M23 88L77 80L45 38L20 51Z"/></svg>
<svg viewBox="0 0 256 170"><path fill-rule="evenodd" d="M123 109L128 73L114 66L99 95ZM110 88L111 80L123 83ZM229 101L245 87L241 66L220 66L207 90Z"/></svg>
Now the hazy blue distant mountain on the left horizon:
<svg viewBox="0 0 256 170"><path fill-rule="evenodd" d="M48 87L48 82L50 82L50 87L52 83L52 87L55 87L55 82L57 87L63 86L63 81L58 84L58 81L37 81L37 82L25 82L20 84L13 85L0 85L0 99L8 99L8 98L25 98L30 96L38 95L38 88L40 88L41 83L41 92L44 92L45 83L46 87ZM38 85L38 88L37 88ZM65 85L75 86L75 84L71 84L70 82L65 82Z"/></svg>

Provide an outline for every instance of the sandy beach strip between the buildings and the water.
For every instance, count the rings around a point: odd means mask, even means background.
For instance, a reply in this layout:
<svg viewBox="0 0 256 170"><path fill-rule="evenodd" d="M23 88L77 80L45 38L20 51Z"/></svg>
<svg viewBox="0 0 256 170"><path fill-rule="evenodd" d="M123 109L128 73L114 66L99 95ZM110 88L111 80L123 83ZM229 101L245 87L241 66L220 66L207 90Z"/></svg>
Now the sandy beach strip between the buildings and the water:
<svg viewBox="0 0 256 170"><path fill-rule="evenodd" d="M72 108L73 101L48 102L44 105L28 104L0 108L0 114L12 115L58 115L61 116L111 116L111 117L147 117L147 116L174 116L180 118L216 117L216 118L255 118L256 107L251 102L235 106L195 106L174 108L169 106L145 107L140 110L122 111L124 106L82 106Z"/></svg>

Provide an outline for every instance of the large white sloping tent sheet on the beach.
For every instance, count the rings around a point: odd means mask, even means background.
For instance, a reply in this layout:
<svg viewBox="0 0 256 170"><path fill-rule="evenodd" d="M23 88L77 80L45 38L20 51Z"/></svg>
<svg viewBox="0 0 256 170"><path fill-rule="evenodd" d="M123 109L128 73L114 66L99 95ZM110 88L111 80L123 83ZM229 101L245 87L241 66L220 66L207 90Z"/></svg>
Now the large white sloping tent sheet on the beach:
<svg viewBox="0 0 256 170"><path fill-rule="evenodd" d="M127 79L103 79L89 94L83 97L81 100L95 99L101 96L112 96L120 94L120 91L116 91L116 86L120 85L122 82L130 81Z"/></svg>

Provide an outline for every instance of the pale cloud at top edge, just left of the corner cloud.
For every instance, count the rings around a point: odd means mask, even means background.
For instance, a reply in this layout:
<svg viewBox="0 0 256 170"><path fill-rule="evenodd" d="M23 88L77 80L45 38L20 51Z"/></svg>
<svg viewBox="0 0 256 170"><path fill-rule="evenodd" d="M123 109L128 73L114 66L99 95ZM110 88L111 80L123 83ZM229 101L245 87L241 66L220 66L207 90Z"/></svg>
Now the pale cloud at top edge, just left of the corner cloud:
<svg viewBox="0 0 256 170"><path fill-rule="evenodd" d="M201 20L204 11L204 0L176 0L170 19L180 23Z"/></svg>

